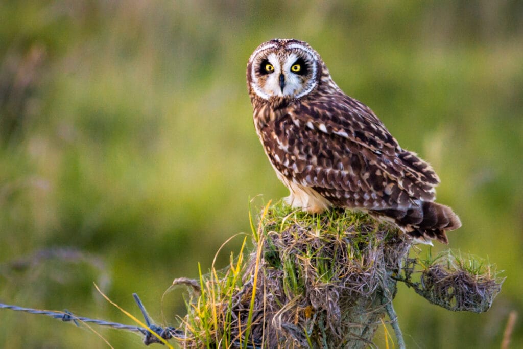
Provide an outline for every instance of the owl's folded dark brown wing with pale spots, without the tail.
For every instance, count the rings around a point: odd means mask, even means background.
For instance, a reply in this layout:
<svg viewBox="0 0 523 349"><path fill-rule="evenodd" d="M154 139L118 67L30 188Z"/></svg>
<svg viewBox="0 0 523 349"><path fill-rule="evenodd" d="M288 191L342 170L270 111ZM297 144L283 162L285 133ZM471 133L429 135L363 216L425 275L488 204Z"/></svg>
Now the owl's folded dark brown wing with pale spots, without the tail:
<svg viewBox="0 0 523 349"><path fill-rule="evenodd" d="M429 164L402 150L373 112L344 94L289 106L258 125L275 168L337 205L408 209L434 200Z"/></svg>

